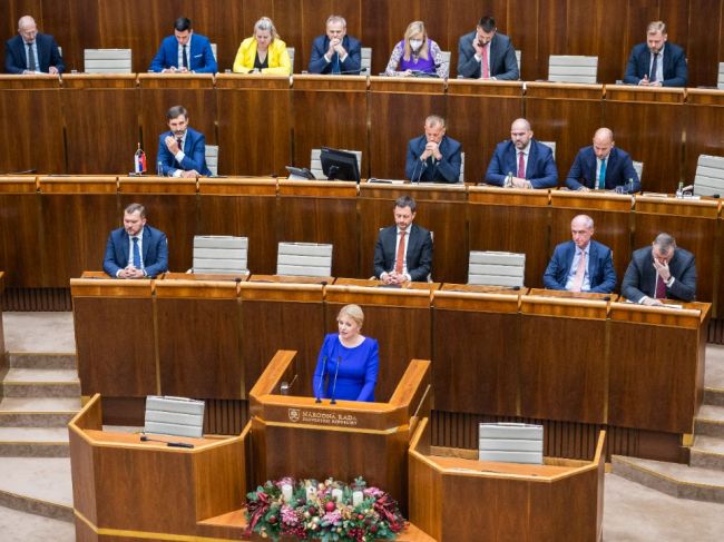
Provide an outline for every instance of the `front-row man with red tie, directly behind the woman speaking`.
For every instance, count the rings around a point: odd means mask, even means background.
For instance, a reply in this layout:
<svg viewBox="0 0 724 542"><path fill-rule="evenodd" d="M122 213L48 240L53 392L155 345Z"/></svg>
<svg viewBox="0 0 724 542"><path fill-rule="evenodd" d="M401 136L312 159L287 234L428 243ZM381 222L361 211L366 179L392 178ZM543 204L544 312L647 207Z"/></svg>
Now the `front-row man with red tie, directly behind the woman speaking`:
<svg viewBox="0 0 724 542"><path fill-rule="evenodd" d="M410 196L394 201L395 226L380 230L374 245L374 276L384 284L423 283L432 267L432 237L412 224L417 204Z"/></svg>

